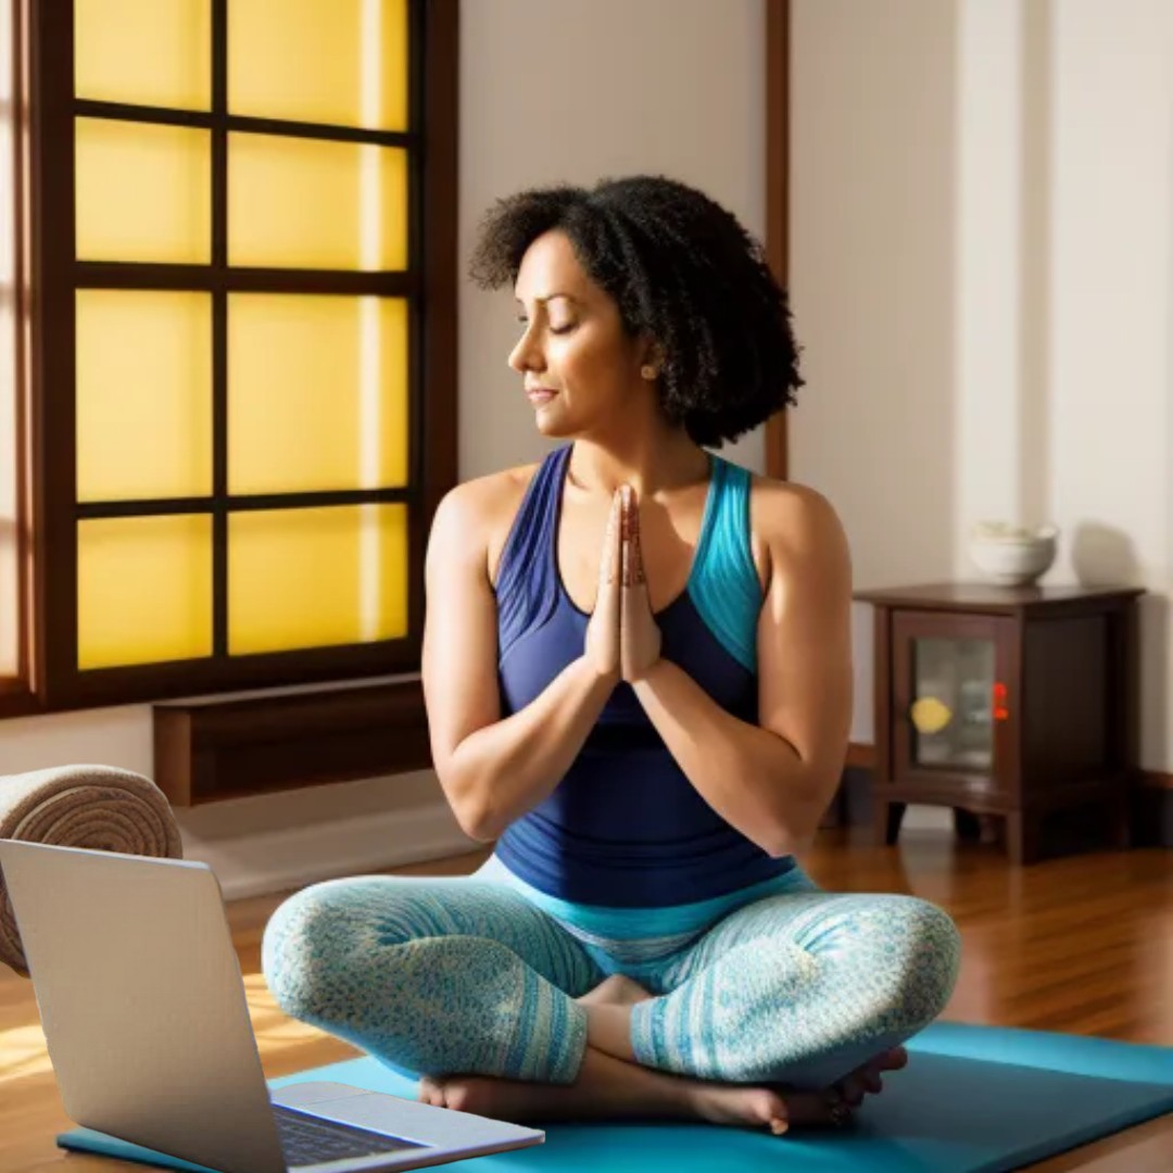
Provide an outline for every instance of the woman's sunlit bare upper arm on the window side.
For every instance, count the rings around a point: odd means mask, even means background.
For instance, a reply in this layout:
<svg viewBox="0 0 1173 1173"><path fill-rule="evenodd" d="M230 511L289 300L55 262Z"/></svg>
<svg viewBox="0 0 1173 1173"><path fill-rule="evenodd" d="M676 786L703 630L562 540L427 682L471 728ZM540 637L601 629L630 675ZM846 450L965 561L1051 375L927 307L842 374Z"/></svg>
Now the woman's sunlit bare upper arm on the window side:
<svg viewBox="0 0 1173 1173"><path fill-rule="evenodd" d="M449 490L436 509L425 560L423 700L432 760L454 809L461 799L449 788L456 747L501 717L489 496L483 480Z"/></svg>

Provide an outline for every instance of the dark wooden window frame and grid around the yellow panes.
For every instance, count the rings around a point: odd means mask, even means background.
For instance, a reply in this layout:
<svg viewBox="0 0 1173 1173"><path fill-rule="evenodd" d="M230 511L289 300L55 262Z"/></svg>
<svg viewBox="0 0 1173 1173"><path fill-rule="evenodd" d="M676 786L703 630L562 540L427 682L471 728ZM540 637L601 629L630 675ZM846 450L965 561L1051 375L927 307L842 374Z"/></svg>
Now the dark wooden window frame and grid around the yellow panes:
<svg viewBox="0 0 1173 1173"><path fill-rule="evenodd" d="M456 482L456 91L459 0L408 0L409 130L367 131L226 113L228 0L212 0L212 109L178 111L76 99L73 0L14 0L23 21L29 201L30 347L25 402L30 447L26 528L30 584L23 624L30 653L23 686L0 692L0 717L361 680L418 672L423 554L432 517ZM18 27L21 27L20 25ZM20 76L20 74L18 74ZM208 265L79 262L74 237L74 120L208 129L212 149L212 252ZM292 134L409 149L406 272L228 266L226 150L230 130ZM75 291L183 290L213 297L213 469L210 497L76 503ZM409 299L409 461L402 489L230 496L226 469L226 299L230 292L406 296ZM240 508L401 502L408 510L408 630L399 639L287 652L228 655L228 517ZM76 523L87 517L210 514L213 645L201 660L77 669ZM20 682L16 682L19 685Z"/></svg>

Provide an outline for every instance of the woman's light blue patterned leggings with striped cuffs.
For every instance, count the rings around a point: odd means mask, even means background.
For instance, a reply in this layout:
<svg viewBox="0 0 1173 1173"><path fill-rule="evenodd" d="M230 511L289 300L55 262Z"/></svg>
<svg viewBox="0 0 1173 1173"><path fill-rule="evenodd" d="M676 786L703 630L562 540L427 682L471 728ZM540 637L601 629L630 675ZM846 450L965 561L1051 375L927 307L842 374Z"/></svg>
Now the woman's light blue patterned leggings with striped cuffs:
<svg viewBox="0 0 1173 1173"><path fill-rule="evenodd" d="M825 893L799 868L786 890L639 964L583 936L480 874L365 876L285 901L262 963L286 1013L409 1077L574 1083L586 1043L575 998L623 971L656 995L632 1010L644 1066L821 1089L936 1018L960 962L936 906ZM630 956L638 942L613 944Z"/></svg>

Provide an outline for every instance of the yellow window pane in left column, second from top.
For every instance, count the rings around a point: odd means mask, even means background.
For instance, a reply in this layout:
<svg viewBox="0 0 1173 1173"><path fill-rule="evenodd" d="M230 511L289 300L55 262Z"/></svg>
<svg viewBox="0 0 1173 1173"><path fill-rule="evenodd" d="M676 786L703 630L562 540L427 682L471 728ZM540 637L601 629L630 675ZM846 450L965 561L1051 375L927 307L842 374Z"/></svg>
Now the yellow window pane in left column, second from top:
<svg viewBox="0 0 1173 1173"><path fill-rule="evenodd" d="M77 118L77 258L208 264L206 130Z"/></svg>

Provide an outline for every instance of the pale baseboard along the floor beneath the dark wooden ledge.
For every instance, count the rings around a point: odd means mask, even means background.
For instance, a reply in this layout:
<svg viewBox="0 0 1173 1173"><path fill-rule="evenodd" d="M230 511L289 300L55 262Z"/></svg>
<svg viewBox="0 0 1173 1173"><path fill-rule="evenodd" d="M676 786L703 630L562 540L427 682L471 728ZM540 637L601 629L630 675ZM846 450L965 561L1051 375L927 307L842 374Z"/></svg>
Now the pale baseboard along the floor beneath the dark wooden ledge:
<svg viewBox="0 0 1173 1173"><path fill-rule="evenodd" d="M461 855L480 846L443 801L382 815L237 839L189 841L184 856L211 866L225 900L304 888L319 880L361 875L406 863Z"/></svg>

